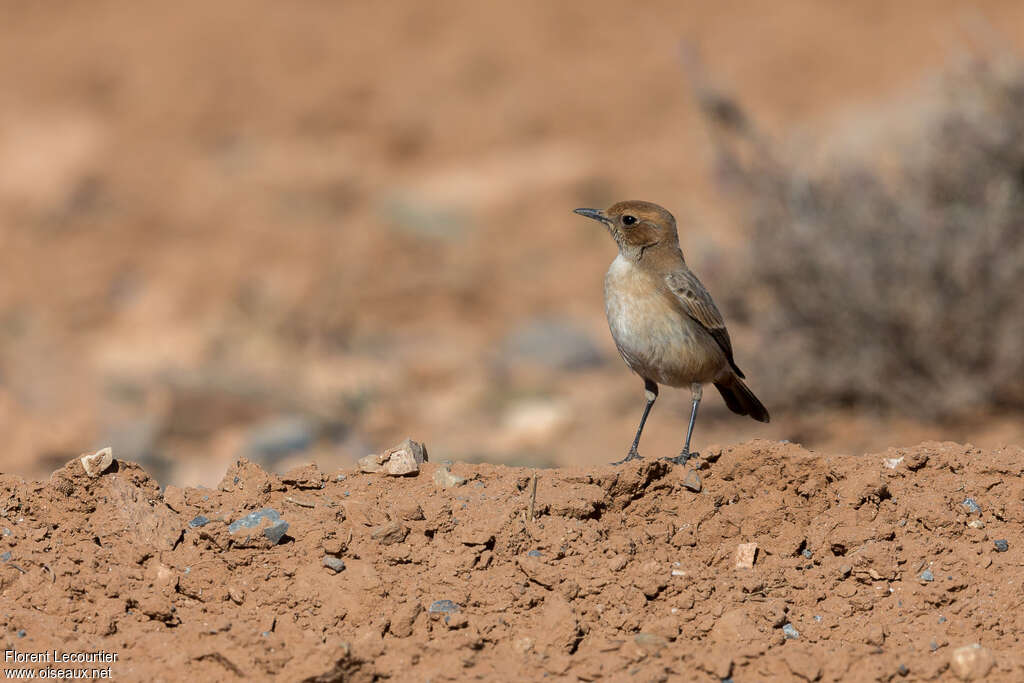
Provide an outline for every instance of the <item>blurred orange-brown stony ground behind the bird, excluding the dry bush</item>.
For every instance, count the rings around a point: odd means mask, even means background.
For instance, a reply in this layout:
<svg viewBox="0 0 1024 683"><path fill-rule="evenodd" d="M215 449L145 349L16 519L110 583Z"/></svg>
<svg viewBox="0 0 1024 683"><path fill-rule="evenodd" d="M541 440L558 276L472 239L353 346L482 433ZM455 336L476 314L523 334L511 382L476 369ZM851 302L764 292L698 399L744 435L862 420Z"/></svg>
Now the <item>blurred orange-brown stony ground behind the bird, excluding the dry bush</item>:
<svg viewBox="0 0 1024 683"><path fill-rule="evenodd" d="M1020 3L968 5L6 3L0 471L111 443L210 484L240 454L332 467L407 433L436 459L625 455L642 393L603 319L613 247L570 210L670 207L720 301L746 256L679 40L773 135L870 154L992 27L1024 42ZM772 340L725 308L771 408ZM663 396L648 455L685 428L688 393ZM698 450L751 436L863 453L1024 428L702 407Z"/></svg>

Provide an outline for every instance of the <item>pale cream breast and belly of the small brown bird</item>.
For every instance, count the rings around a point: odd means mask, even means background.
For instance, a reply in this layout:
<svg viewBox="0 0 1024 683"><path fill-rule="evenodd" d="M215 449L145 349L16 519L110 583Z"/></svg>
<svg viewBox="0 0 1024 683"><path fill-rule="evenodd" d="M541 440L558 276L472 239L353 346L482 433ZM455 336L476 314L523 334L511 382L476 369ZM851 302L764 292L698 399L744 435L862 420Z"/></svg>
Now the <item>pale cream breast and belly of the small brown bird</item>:
<svg viewBox="0 0 1024 683"><path fill-rule="evenodd" d="M726 365L718 344L671 300L653 292L647 278L621 256L605 278L605 313L623 359L658 384L715 381Z"/></svg>

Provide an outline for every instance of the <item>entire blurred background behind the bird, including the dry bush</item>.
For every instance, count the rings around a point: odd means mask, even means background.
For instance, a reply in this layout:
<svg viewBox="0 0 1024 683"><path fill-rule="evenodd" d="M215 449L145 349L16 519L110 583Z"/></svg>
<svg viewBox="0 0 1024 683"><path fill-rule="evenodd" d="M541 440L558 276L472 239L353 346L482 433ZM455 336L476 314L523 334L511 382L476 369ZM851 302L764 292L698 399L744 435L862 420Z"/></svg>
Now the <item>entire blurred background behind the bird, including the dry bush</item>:
<svg viewBox="0 0 1024 683"><path fill-rule="evenodd" d="M0 471L625 456L580 206L670 208L772 412L1024 437L1024 4L0 4ZM689 392L641 443L678 452Z"/></svg>

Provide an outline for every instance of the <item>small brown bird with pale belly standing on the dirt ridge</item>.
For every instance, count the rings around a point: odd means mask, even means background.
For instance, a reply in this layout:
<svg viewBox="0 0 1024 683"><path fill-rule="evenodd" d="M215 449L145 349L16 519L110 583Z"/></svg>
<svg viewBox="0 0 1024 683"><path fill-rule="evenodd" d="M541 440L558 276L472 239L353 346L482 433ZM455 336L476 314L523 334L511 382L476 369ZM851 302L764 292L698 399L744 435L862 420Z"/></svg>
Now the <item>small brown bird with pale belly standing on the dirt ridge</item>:
<svg viewBox="0 0 1024 683"><path fill-rule="evenodd" d="M618 353L643 380L647 400L629 454L612 464L641 458L640 434L659 385L689 386L692 392L683 449L666 458L678 465L698 455L690 453L690 437L705 384L714 384L733 413L768 422L768 411L733 358L722 313L683 258L675 216L640 201L574 213L603 223L618 246L604 276L604 312Z"/></svg>

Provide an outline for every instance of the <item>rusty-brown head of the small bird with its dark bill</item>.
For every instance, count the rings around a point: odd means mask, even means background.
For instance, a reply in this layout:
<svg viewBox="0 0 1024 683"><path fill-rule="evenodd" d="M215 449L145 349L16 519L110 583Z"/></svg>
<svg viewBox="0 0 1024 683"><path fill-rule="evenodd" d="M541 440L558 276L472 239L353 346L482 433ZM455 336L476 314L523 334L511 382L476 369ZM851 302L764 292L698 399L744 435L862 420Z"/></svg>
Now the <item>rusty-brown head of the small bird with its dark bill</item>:
<svg viewBox="0 0 1024 683"><path fill-rule="evenodd" d="M620 202L605 211L577 209L574 213L604 223L618 253L631 261L640 261L651 251L679 251L676 219L656 204Z"/></svg>

